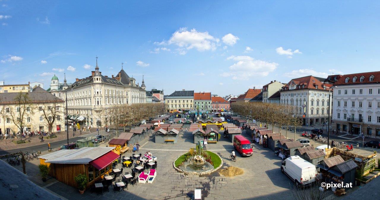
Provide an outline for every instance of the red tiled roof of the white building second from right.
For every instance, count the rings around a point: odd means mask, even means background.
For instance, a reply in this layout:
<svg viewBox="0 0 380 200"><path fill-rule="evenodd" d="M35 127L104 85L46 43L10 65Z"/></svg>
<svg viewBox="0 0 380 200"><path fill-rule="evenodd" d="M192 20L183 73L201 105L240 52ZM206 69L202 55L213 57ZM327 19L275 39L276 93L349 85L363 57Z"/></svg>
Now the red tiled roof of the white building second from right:
<svg viewBox="0 0 380 200"><path fill-rule="evenodd" d="M294 90L302 90L302 89L312 89L312 90L325 90L323 86L331 87L331 84L322 83L320 80L313 76L305 76L297 79L291 79L288 84L283 86L282 88L285 88L281 91L287 91L289 90L289 87L291 87L291 84L294 83L294 85L297 85L297 87ZM302 88L302 85L304 87ZM318 85L318 89L315 88L315 86ZM301 87L299 87L301 86Z"/></svg>

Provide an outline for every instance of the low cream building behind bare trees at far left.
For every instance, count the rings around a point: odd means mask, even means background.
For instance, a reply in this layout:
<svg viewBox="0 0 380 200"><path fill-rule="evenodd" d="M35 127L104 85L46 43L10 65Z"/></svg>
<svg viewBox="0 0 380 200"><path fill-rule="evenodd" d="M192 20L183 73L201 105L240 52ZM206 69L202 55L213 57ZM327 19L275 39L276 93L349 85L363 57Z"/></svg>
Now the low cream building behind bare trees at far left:
<svg viewBox="0 0 380 200"><path fill-rule="evenodd" d="M27 97L26 97L27 96ZM17 99L21 99L17 103ZM64 131L63 101L46 90L35 87L31 92L0 94L0 132L16 134L22 131ZM21 113L21 114L20 114ZM14 122L22 121L23 127Z"/></svg>

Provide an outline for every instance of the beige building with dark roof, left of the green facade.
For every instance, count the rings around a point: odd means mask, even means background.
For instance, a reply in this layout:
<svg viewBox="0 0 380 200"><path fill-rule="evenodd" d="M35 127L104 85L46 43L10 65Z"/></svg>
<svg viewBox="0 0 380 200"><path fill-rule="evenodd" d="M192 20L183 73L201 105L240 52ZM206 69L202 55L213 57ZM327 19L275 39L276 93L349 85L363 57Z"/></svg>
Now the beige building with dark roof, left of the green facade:
<svg viewBox="0 0 380 200"><path fill-rule="evenodd" d="M172 110L190 110L193 109L194 90L175 91L165 97L166 109Z"/></svg>

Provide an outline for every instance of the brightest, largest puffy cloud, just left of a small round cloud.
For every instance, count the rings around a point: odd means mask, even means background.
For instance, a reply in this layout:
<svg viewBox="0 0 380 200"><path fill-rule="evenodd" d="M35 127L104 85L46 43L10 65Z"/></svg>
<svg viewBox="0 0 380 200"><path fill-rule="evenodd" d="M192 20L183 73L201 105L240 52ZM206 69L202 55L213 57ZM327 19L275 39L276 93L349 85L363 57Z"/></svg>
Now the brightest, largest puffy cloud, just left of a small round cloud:
<svg viewBox="0 0 380 200"><path fill-rule="evenodd" d="M196 49L200 52L215 50L218 42L219 39L214 38L207 31L198 32L195 28L188 31L187 28L180 28L173 33L168 42L162 41L161 43L156 42L154 44L175 44L180 47L178 49L179 54L184 55L189 49Z"/></svg>

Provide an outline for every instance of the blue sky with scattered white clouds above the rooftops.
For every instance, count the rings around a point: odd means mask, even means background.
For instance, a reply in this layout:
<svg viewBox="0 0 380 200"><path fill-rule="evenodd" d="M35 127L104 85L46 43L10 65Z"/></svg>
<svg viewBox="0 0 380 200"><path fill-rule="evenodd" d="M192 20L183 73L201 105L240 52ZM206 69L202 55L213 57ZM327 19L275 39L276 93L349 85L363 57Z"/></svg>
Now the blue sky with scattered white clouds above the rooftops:
<svg viewBox="0 0 380 200"><path fill-rule="evenodd" d="M271 80L378 71L380 2L0 0L0 80L120 71L147 89L241 94Z"/></svg>

